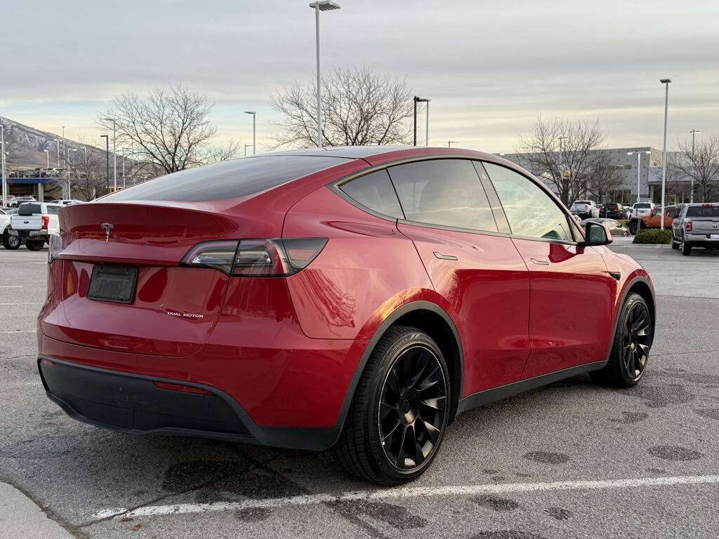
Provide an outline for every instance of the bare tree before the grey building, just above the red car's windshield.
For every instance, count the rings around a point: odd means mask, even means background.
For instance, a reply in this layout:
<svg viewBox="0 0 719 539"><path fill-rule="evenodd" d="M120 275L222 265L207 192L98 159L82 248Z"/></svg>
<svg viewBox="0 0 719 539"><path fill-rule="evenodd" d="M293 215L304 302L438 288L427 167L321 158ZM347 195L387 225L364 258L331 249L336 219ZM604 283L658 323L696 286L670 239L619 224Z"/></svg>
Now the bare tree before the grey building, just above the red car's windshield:
<svg viewBox="0 0 719 539"><path fill-rule="evenodd" d="M592 152L604 139L598 120L571 123L556 118L544 121L538 116L532 134L519 138L516 151L525 154L522 165L544 178L562 202L569 204L587 192L592 170L596 170Z"/></svg>

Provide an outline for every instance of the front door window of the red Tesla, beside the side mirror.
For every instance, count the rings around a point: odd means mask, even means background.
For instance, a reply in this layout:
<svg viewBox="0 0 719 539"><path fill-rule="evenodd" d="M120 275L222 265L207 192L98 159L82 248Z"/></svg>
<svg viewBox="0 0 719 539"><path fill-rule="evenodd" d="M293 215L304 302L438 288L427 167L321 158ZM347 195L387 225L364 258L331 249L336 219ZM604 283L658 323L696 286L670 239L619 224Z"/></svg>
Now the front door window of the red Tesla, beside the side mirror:
<svg viewBox="0 0 719 539"><path fill-rule="evenodd" d="M506 167L488 162L484 165L502 202L512 234L573 241L567 215L539 185Z"/></svg>

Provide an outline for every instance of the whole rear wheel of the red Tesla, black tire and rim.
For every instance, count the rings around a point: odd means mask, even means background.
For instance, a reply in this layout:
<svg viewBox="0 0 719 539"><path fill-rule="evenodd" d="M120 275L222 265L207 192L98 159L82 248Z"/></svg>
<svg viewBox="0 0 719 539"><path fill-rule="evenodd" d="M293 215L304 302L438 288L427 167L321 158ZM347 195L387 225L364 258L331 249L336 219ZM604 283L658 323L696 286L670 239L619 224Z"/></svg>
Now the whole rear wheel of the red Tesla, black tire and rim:
<svg viewBox="0 0 719 539"><path fill-rule="evenodd" d="M390 328L372 350L334 453L350 474L392 486L425 471L449 419L449 372L416 328Z"/></svg>

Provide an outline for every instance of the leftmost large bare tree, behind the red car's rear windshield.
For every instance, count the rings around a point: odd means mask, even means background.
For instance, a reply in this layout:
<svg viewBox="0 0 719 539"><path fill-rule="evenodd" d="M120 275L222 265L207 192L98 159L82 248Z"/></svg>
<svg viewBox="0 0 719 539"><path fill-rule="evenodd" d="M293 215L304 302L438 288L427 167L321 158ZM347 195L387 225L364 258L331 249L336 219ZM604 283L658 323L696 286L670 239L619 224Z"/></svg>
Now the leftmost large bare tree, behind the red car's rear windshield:
<svg viewBox="0 0 719 539"><path fill-rule="evenodd" d="M211 139L217 129L209 114L214 103L207 96L184 86L156 88L147 99L126 93L107 111L98 114L96 123L108 134L115 120L121 146L134 147L137 160L150 162L163 172L175 172L211 162L215 157L234 157L239 144L230 142L234 151L214 152Z"/></svg>

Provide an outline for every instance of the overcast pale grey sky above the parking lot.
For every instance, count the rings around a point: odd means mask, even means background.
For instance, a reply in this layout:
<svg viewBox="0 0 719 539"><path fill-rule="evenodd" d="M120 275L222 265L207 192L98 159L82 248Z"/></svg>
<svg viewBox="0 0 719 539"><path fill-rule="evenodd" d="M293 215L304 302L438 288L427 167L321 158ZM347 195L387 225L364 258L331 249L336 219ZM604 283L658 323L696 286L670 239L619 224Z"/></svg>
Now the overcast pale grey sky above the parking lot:
<svg viewBox="0 0 719 539"><path fill-rule="evenodd" d="M537 114L599 119L608 147L719 134L719 2L339 0L323 70L365 66L431 98L430 144L511 152ZM219 138L270 144L268 96L311 83L308 0L4 1L0 116L97 137L121 93L182 83L216 102ZM420 119L423 122L423 118ZM421 123L423 126L423 123ZM422 130L423 137L423 130Z"/></svg>

